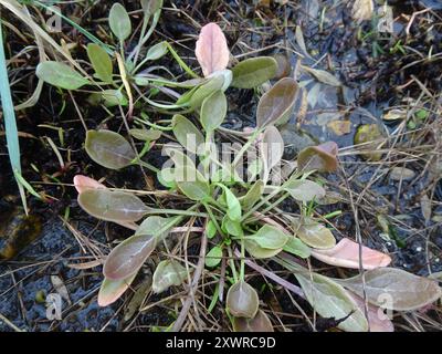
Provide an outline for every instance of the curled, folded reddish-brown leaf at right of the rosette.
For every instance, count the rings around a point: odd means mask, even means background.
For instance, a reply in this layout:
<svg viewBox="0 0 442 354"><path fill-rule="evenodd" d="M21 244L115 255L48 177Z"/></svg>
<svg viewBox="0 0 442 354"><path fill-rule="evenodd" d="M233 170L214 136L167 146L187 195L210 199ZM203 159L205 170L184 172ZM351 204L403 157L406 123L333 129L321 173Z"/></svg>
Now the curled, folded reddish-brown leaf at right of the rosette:
<svg viewBox="0 0 442 354"><path fill-rule="evenodd" d="M317 169L333 173L338 168L338 146L327 142L317 146L308 146L297 156L297 166L304 171Z"/></svg>

